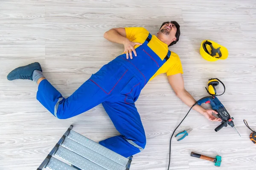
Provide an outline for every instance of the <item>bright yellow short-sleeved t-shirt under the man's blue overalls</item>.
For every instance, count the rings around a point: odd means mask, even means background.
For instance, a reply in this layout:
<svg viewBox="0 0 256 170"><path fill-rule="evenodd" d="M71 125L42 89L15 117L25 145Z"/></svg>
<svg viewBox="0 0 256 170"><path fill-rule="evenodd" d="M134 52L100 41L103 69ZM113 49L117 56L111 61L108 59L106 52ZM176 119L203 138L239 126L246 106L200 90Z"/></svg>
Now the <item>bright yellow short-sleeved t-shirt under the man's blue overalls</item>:
<svg viewBox="0 0 256 170"><path fill-rule="evenodd" d="M128 27L125 28L125 32L126 37L130 41L140 43L145 42L149 33L148 30L143 27ZM138 46L140 45L135 45L135 48ZM166 57L168 52L168 45L160 41L155 35L152 35L150 42L148 42L148 47L151 48L151 50L153 50L162 60ZM154 79L154 77L162 73L166 73L167 76L178 73L183 74L180 58L177 54L172 52L170 58L163 64L161 68L158 69L158 71L151 77L151 79Z"/></svg>

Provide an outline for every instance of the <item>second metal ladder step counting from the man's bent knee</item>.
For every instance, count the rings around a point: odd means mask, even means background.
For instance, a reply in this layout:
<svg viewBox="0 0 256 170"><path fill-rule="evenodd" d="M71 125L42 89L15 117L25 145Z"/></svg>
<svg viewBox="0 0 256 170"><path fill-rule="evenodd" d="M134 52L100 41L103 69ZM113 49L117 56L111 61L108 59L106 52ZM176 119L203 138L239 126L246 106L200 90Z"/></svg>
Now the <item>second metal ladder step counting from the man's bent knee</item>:
<svg viewBox="0 0 256 170"><path fill-rule="evenodd" d="M104 167L107 170L126 170L126 167L123 167L115 161L112 161L111 159L108 159L105 156L102 156L101 154L96 153L69 138L66 138L61 146L79 154L80 156L83 156L84 158L98 164L101 167Z"/></svg>

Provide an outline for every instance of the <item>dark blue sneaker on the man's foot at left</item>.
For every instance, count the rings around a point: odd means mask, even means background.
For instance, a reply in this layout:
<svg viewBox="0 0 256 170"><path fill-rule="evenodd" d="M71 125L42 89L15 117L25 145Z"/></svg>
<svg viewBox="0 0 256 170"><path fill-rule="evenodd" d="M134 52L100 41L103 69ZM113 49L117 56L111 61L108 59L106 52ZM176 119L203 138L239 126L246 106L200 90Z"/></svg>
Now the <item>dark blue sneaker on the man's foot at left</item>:
<svg viewBox="0 0 256 170"><path fill-rule="evenodd" d="M7 75L8 80L14 79L32 79L32 74L34 70L42 71L41 65L39 62L33 62L29 65L25 65L22 67L15 68Z"/></svg>

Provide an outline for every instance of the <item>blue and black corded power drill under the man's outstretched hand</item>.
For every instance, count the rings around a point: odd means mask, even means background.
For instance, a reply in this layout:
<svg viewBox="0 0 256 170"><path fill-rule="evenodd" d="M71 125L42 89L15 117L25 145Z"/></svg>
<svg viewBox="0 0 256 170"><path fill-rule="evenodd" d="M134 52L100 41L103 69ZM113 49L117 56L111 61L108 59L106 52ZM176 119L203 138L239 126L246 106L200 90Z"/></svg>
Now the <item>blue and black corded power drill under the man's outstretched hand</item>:
<svg viewBox="0 0 256 170"><path fill-rule="evenodd" d="M230 125L231 127L234 127L236 130L236 127L233 122L233 117L230 117L230 114L227 112L224 105L221 104L221 102L218 100L218 98L215 95L203 97L202 99L199 99L197 101L198 105L201 105L203 103L209 103L212 107L212 110L218 112L218 117L221 118L222 122L221 125L215 128L215 132L218 132L221 130L222 127L227 127L227 125ZM239 132L236 130L236 132L239 134ZM239 134L239 136L241 136Z"/></svg>

